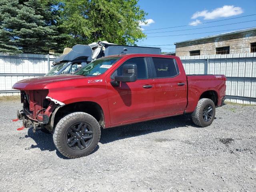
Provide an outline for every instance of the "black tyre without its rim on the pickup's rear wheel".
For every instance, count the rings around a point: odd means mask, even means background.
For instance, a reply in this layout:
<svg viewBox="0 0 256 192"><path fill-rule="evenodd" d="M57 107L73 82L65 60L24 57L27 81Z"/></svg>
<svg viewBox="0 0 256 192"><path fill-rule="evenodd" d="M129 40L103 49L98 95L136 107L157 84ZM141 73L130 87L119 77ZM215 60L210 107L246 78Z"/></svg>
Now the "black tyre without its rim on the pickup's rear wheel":
<svg viewBox="0 0 256 192"><path fill-rule="evenodd" d="M212 118L209 122L204 121L203 118L203 111L204 108L206 107L206 105L210 104L212 106L212 110L213 110L213 114L212 114ZM196 109L194 110L194 112L192 113L192 120L194 122L194 124L200 126L200 127L206 127L209 126L210 124L212 124L212 121L214 120L215 117L215 104L211 99L207 99L207 98L202 98L198 101L198 104L196 106Z"/></svg>

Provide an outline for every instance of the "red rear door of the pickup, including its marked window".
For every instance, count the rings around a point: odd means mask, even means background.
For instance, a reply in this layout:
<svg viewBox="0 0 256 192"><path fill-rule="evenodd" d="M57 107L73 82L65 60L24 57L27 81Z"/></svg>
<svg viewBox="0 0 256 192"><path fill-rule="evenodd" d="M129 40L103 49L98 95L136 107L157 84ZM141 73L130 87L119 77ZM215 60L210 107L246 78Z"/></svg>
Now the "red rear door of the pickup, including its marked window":
<svg viewBox="0 0 256 192"><path fill-rule="evenodd" d="M154 115L182 114L187 104L186 75L174 58L150 58L155 86Z"/></svg>

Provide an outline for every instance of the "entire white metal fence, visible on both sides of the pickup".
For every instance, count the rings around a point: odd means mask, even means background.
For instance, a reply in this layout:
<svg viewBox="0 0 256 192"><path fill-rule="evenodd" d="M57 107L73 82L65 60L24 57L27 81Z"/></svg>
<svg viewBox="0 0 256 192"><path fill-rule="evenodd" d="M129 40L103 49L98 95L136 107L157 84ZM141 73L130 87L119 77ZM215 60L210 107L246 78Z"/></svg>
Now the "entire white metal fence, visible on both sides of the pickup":
<svg viewBox="0 0 256 192"><path fill-rule="evenodd" d="M22 79L43 76L54 56L0 54L0 96L18 94L12 85ZM230 102L256 104L256 53L182 56L186 74L224 74Z"/></svg>

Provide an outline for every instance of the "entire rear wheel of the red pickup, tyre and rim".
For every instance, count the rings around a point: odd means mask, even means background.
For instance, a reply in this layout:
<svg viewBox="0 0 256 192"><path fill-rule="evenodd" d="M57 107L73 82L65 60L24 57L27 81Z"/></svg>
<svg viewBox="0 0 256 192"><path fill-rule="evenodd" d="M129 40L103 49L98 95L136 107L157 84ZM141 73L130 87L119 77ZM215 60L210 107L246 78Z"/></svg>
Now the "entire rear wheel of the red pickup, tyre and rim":
<svg viewBox="0 0 256 192"><path fill-rule="evenodd" d="M206 127L212 124L215 117L215 104L211 99L202 98L198 101L196 109L192 113L194 124Z"/></svg>

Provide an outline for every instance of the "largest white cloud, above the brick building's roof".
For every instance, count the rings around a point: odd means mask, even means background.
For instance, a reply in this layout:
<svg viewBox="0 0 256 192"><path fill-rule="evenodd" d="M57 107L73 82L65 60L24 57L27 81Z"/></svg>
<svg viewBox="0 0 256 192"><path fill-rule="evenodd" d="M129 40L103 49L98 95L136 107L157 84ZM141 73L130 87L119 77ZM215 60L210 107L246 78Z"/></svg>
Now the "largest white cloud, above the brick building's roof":
<svg viewBox="0 0 256 192"><path fill-rule="evenodd" d="M204 20L209 20L219 17L230 17L242 13L243 10L240 7L235 7L234 5L224 5L223 7L212 10L212 12L209 12L208 10L198 11L192 15L191 19L204 17Z"/></svg>

